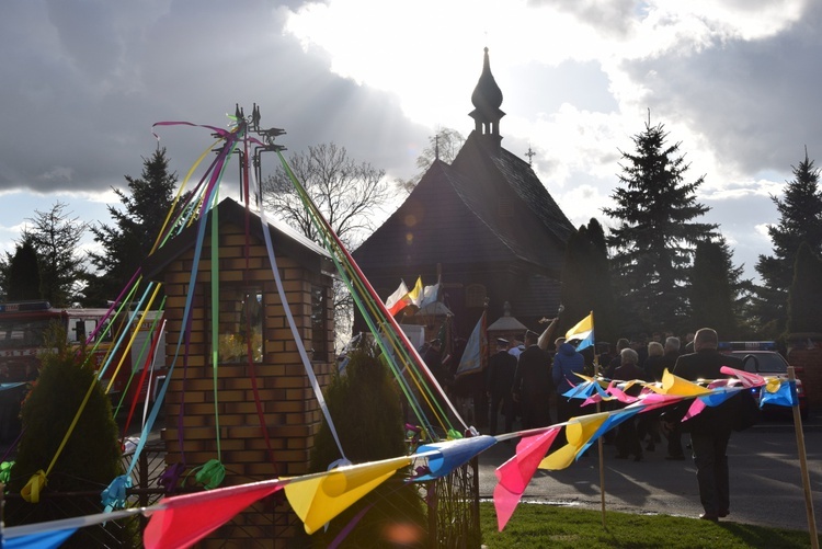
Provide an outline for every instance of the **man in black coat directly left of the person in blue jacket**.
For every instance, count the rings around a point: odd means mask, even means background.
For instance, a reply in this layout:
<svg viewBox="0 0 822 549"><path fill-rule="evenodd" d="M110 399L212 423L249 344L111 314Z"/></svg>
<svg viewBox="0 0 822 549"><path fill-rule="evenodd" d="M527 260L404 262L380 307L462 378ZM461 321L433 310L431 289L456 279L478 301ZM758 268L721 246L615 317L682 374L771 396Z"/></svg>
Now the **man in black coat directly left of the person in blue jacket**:
<svg viewBox="0 0 822 549"><path fill-rule="evenodd" d="M514 376L514 400L520 402L525 428L551 424L551 356L539 347L538 340L536 332L526 332L525 351L520 354Z"/></svg>

